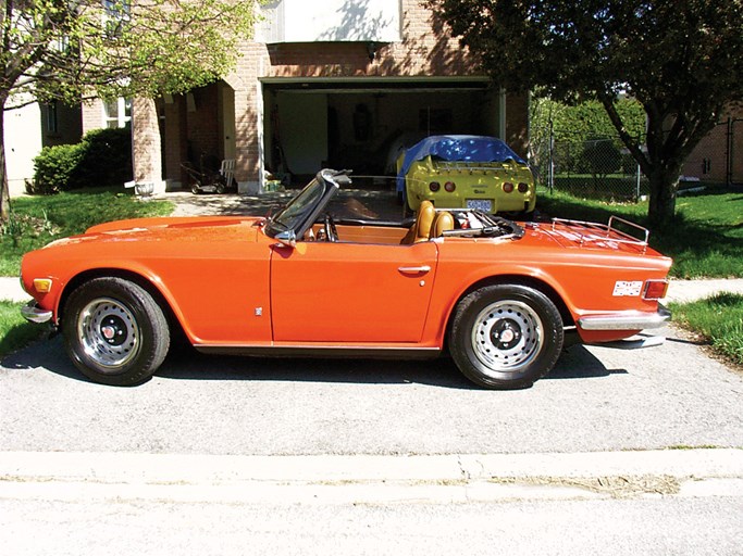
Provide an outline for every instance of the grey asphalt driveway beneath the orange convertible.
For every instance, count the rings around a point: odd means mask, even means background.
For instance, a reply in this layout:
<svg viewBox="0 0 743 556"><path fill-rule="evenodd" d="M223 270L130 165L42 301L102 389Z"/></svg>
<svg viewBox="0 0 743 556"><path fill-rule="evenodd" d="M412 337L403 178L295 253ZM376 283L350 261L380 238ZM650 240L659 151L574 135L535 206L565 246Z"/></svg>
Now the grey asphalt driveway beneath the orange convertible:
<svg viewBox="0 0 743 556"><path fill-rule="evenodd" d="M743 446L743 376L671 337L574 346L528 390L480 390L450 359L172 354L149 382L88 382L60 338L0 367L0 446L30 452L448 454Z"/></svg>

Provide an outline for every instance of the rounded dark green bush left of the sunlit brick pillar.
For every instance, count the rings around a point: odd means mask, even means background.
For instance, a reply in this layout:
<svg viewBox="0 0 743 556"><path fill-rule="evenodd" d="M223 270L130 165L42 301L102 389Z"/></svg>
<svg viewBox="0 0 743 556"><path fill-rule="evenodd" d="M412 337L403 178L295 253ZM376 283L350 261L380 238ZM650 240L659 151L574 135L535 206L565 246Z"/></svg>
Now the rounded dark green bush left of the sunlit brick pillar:
<svg viewBox="0 0 743 556"><path fill-rule="evenodd" d="M95 129L76 144L45 147L34 159L33 194L53 194L84 187L122 186L132 179L132 132Z"/></svg>

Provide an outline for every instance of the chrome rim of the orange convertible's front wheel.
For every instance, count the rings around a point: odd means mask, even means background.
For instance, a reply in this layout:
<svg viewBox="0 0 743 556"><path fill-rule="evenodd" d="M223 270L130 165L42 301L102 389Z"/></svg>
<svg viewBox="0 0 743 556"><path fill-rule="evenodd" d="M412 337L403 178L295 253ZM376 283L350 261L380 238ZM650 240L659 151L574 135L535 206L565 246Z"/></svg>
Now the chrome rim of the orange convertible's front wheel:
<svg viewBox="0 0 743 556"><path fill-rule="evenodd" d="M116 372L134 359L141 341L132 312L110 298L99 298L83 308L77 337L85 354L104 372Z"/></svg>

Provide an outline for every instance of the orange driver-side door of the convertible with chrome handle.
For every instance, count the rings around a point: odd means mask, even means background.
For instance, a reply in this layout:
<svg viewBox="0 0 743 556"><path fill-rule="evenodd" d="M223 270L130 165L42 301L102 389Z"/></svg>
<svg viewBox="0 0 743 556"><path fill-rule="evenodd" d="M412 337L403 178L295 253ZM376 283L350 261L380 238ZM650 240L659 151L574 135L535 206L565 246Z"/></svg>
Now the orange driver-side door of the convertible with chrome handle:
<svg viewBox="0 0 743 556"><path fill-rule="evenodd" d="M419 342L436 270L433 242L275 244L276 342Z"/></svg>

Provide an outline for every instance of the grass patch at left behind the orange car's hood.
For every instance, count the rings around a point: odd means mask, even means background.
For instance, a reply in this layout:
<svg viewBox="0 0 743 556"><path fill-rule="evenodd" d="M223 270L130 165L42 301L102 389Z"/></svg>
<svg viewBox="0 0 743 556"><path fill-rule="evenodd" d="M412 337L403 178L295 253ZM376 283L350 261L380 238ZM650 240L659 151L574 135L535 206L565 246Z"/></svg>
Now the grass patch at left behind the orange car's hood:
<svg viewBox="0 0 743 556"><path fill-rule="evenodd" d="M173 204L168 201L143 202L121 188L14 199L11 219L0 229L0 276L18 276L24 253L55 239L82 233L95 224L163 216L172 211Z"/></svg>

